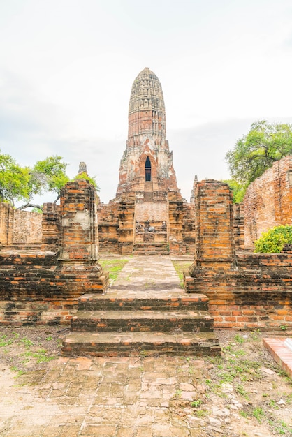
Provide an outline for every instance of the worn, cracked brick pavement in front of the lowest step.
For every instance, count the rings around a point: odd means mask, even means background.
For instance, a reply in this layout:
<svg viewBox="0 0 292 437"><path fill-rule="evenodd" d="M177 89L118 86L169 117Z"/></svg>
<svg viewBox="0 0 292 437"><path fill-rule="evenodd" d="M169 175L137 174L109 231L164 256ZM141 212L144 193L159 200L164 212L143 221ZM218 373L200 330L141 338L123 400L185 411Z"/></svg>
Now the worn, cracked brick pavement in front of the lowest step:
<svg viewBox="0 0 292 437"><path fill-rule="evenodd" d="M190 371L191 369L191 371ZM176 408L201 396L203 360L61 357L13 380L0 399L1 436L193 437L200 421Z"/></svg>

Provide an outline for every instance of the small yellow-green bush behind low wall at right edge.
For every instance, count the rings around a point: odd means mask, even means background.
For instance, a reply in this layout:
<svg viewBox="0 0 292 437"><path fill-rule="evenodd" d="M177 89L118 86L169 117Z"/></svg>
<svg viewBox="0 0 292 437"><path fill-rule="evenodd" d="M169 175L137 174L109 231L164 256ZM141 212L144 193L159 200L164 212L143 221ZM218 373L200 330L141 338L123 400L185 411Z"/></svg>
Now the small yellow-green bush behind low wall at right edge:
<svg viewBox="0 0 292 437"><path fill-rule="evenodd" d="M292 226L280 225L263 232L254 242L255 252L279 253L285 244L292 244Z"/></svg>

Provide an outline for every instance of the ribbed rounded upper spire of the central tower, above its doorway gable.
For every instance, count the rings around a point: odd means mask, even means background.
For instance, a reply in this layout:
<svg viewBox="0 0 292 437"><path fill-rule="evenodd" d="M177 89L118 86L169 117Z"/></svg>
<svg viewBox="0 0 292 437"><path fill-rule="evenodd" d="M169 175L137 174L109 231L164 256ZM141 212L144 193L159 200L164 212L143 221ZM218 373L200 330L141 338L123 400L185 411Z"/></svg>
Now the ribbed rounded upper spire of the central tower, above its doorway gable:
<svg viewBox="0 0 292 437"><path fill-rule="evenodd" d="M129 103L128 145L140 145L145 136L155 145L166 142L166 110L159 78L144 68L133 82Z"/></svg>

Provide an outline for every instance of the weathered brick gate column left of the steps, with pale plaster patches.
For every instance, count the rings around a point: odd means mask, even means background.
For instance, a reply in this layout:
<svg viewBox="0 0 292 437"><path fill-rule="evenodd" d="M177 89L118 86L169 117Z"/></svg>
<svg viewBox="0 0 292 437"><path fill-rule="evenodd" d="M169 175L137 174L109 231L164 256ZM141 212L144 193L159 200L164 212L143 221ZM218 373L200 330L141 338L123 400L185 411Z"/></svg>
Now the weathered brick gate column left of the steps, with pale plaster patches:
<svg viewBox="0 0 292 437"><path fill-rule="evenodd" d="M68 182L61 191L59 278L71 278L68 290L104 292L108 273L98 263L95 188L85 179Z"/></svg>

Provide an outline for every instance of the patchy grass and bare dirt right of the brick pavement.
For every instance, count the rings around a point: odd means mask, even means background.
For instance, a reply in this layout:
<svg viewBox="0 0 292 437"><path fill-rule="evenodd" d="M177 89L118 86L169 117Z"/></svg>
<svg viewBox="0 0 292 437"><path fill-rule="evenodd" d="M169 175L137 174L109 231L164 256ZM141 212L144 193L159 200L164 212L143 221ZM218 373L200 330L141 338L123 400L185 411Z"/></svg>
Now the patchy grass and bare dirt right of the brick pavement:
<svg viewBox="0 0 292 437"><path fill-rule="evenodd" d="M233 392L240 401L240 416L254 420L254 423L266 427L275 436L292 436L291 424L279 417L283 407L277 403L280 397L287 406L292 403L291 380L286 378L275 362L266 361L261 332L256 330L235 334L225 343L221 357L207 357L205 361L211 366L204 380L206 399L224 399L223 403L228 408L229 392ZM269 380L261 367L274 369L278 379ZM281 389L283 385L284 390ZM196 413L201 409L200 406L195 408ZM203 413L197 417L203 417Z"/></svg>

